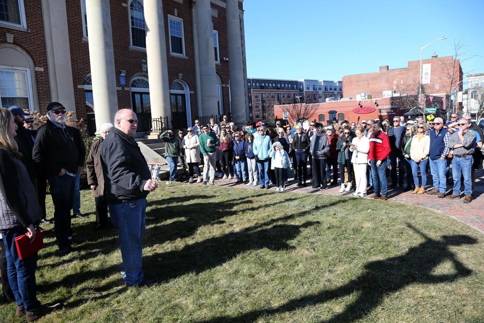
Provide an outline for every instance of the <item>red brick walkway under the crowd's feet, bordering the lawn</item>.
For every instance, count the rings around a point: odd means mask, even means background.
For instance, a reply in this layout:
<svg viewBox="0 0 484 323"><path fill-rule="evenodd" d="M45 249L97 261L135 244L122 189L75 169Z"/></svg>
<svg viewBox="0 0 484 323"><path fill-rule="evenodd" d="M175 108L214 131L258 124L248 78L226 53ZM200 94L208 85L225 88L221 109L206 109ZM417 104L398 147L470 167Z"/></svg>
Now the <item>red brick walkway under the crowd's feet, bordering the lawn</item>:
<svg viewBox="0 0 484 323"><path fill-rule="evenodd" d="M290 171L292 173L292 171ZM484 233L484 171L478 170L475 173L475 189L472 197L472 202L469 204L462 203L463 195L460 199L449 200L447 198L438 198L437 195L428 194L411 194L410 192L402 192L398 188L389 188L388 197L391 201L402 202L406 204L418 205L434 211L447 214L448 216L463 222L477 231ZM293 178L293 177L292 177ZM289 174L289 179L291 175ZM388 179L391 182L390 179ZM247 185L235 185L236 180L216 180L216 185L230 186L230 187L243 187L248 189L259 189L259 186L247 186ZM432 187L432 176L428 177L427 188ZM353 197L351 192L340 193L340 186L331 187L325 191L315 191L311 188L312 182L308 182L307 187L297 187L297 181L289 180L286 186L286 192L295 193L313 193L313 194L331 194L331 195L348 195ZM447 195L451 194L452 188L447 186ZM271 187L271 190L275 190L275 187ZM463 192L462 192L463 193ZM446 196L447 196L446 195ZM382 202L384 203L384 202Z"/></svg>

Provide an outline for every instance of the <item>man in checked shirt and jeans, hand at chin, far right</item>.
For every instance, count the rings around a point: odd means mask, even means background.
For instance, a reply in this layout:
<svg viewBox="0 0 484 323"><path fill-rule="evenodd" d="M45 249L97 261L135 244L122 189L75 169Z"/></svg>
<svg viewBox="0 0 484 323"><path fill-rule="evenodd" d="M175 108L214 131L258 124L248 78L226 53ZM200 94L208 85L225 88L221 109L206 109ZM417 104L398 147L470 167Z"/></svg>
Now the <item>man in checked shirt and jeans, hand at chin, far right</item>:
<svg viewBox="0 0 484 323"><path fill-rule="evenodd" d="M471 168L473 163L472 153L475 148L475 134L469 130L469 122L461 118L458 123L459 131L456 131L449 138L447 147L453 150L452 154L452 177L454 188L449 199L460 198L460 178L464 177L464 203L472 200L472 177Z"/></svg>

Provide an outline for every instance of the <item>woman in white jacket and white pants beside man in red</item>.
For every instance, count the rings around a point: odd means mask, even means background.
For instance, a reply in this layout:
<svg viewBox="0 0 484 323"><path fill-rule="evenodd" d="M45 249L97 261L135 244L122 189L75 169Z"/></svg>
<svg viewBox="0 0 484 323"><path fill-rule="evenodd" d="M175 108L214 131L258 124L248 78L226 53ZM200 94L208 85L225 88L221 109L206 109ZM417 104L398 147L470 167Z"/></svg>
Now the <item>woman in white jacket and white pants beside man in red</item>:
<svg viewBox="0 0 484 323"><path fill-rule="evenodd" d="M367 195L367 167L368 152L370 151L370 140L364 135L365 130L362 126L357 126L356 137L351 141L349 151L353 152L351 164L353 164L354 179L356 190L353 196L365 197Z"/></svg>

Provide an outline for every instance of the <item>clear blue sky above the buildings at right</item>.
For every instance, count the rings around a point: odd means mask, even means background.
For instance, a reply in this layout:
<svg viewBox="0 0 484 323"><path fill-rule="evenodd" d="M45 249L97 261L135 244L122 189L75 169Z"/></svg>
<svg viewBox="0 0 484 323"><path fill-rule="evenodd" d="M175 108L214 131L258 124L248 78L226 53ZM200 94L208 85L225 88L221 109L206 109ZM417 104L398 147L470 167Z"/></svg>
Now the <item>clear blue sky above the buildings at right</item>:
<svg viewBox="0 0 484 323"><path fill-rule="evenodd" d="M417 10L418 8L418 10ZM484 1L245 0L247 76L341 80L403 68L420 47L439 56L464 44L466 73L484 72ZM465 82L465 81L464 81Z"/></svg>

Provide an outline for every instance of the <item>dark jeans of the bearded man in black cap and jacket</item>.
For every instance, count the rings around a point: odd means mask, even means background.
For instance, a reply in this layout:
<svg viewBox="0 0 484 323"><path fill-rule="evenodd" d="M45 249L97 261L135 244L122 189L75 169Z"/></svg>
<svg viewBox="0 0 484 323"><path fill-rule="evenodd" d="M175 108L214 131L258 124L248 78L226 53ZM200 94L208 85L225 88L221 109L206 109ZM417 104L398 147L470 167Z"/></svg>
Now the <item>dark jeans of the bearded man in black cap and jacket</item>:
<svg viewBox="0 0 484 323"><path fill-rule="evenodd" d="M72 237L71 208L74 199L75 178L71 175L47 177L54 204L54 232L59 250L69 248Z"/></svg>

